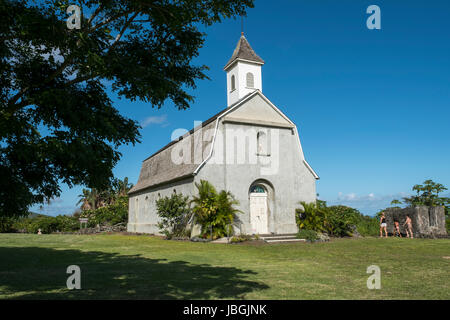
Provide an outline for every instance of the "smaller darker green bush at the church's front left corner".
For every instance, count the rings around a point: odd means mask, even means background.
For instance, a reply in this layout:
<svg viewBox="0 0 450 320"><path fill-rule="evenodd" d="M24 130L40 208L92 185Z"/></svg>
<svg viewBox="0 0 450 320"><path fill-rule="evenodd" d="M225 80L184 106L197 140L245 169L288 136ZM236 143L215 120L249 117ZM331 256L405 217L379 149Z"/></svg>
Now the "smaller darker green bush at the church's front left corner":
<svg viewBox="0 0 450 320"><path fill-rule="evenodd" d="M191 217L189 197L172 194L156 200L156 212L161 218L158 228L167 238L186 235L186 225Z"/></svg>

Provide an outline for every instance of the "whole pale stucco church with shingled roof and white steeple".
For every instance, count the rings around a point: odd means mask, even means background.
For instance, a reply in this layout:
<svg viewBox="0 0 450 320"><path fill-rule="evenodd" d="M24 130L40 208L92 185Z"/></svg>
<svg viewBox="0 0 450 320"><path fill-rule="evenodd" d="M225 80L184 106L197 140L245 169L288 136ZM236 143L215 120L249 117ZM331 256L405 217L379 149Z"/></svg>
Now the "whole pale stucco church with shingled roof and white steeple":
<svg viewBox="0 0 450 320"><path fill-rule="evenodd" d="M129 232L158 234L156 200L192 197L200 180L239 201L237 233L297 232L295 209L316 200L319 177L296 125L263 94L263 65L242 34L224 67L227 107L143 161L129 192Z"/></svg>

